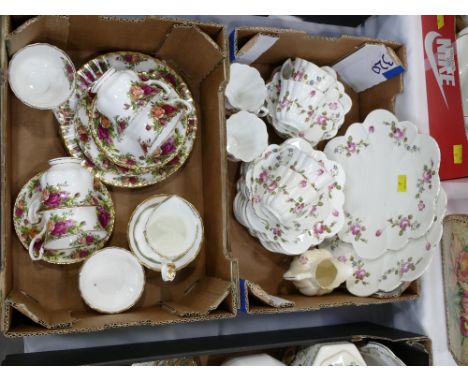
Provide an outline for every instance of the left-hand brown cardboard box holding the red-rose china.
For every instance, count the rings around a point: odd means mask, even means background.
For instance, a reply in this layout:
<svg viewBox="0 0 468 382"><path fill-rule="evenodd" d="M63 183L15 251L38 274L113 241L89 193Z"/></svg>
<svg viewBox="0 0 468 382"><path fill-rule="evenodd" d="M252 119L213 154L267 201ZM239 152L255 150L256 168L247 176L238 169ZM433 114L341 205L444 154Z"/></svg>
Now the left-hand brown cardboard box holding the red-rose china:
<svg viewBox="0 0 468 382"><path fill-rule="evenodd" d="M94 16L41 16L19 25L16 19L4 16L1 42L2 331L7 336L42 335L234 317L237 267L228 252L226 235L223 26L153 17ZM108 186L116 208L108 246L128 248L126 228L131 212L158 193L176 193L189 200L205 227L205 242L197 259L172 283L164 283L159 273L146 270L142 298L121 314L103 315L89 309L78 291L81 264L33 262L13 230L12 207L21 187L45 170L49 159L68 155L52 113L25 106L8 86L8 58L35 42L57 45L76 67L105 52L153 54L181 74L198 105L196 143L181 170L160 184L141 189Z"/></svg>

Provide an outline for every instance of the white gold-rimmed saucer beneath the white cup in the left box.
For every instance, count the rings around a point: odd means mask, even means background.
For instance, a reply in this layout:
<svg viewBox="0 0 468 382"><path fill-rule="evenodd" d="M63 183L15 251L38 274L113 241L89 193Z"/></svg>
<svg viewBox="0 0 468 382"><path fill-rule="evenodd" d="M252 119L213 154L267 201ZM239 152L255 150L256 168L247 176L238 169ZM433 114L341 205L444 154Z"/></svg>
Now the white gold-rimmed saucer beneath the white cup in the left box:
<svg viewBox="0 0 468 382"><path fill-rule="evenodd" d="M154 250L147 243L144 236L145 225L149 217L154 211L154 208L158 207L162 202L164 202L169 195L155 195L146 199L140 203L137 208L133 211L130 221L128 223L128 242L130 244L130 249L138 258L138 260L147 268L152 269L157 272L161 272L162 266L168 262L171 262L175 266L175 270L180 270L190 264L197 257L200 252L201 245L203 243L203 222L199 216L195 207L193 207L189 202L184 200L185 203L191 208L192 212L196 217L198 217L198 222L196 226L196 238L192 243L190 248L185 251L182 255L168 260L162 256L158 256Z"/></svg>

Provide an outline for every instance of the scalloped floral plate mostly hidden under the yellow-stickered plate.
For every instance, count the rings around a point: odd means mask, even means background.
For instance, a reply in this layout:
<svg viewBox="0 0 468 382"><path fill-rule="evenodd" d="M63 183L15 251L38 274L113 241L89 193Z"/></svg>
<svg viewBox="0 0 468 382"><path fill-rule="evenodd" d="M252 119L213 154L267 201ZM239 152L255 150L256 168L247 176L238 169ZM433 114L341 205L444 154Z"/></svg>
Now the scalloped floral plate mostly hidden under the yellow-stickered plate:
<svg viewBox="0 0 468 382"><path fill-rule="evenodd" d="M397 251L386 251L373 260L361 258L351 244L338 237L327 240L320 248L330 251L343 264L352 266L352 275L346 281L348 291L367 297L377 292L391 292L400 285L421 277L438 251L442 237L442 221L447 206L447 196L441 188L436 204L434 224L428 232Z"/></svg>

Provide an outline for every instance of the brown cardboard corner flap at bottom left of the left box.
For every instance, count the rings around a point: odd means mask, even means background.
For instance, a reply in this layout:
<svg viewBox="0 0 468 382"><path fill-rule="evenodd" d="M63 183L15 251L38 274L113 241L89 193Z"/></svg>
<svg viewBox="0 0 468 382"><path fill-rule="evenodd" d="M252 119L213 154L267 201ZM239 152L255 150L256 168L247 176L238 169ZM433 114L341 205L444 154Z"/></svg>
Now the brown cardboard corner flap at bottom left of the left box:
<svg viewBox="0 0 468 382"><path fill-rule="evenodd" d="M48 311L23 291L13 290L5 301L34 322L47 329L67 328L75 321L68 310Z"/></svg>

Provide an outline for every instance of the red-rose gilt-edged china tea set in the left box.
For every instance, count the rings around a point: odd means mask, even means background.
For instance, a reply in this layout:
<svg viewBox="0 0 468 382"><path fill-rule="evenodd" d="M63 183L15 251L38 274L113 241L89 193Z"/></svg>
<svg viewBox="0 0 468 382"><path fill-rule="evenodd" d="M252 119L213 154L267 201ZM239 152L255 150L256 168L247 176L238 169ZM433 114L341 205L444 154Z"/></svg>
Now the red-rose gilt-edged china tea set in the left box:
<svg viewBox="0 0 468 382"><path fill-rule="evenodd" d="M12 91L26 105L52 110L71 157L21 189L13 223L32 260L85 261L83 300L102 313L132 307L143 293L143 267L173 281L203 243L203 221L178 195L140 203L128 223L131 252L106 247L115 222L104 183L135 188L158 183L188 159L197 110L182 78L164 62L135 52L108 53L75 67L55 46L33 44L10 61Z"/></svg>

